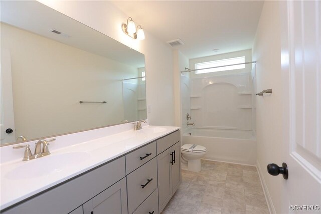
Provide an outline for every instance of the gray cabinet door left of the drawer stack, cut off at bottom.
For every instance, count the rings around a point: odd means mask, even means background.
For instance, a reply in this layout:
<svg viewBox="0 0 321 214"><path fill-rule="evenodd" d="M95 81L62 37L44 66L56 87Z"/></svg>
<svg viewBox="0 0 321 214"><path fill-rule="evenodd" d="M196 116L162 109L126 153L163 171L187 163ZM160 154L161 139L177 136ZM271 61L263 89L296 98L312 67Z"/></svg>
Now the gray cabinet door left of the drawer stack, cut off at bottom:
<svg viewBox="0 0 321 214"><path fill-rule="evenodd" d="M84 214L127 214L126 189L126 178L123 178L85 203Z"/></svg>

